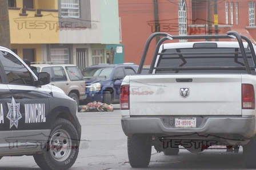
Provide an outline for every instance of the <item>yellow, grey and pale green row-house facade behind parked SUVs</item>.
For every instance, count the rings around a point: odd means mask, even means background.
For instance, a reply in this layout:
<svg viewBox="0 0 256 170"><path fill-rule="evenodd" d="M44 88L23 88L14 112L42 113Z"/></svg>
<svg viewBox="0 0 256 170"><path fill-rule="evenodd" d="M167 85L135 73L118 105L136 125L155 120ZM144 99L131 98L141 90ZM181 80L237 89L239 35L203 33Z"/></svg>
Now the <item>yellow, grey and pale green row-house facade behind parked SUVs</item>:
<svg viewBox="0 0 256 170"><path fill-rule="evenodd" d="M8 2L11 49L22 59L75 64L82 70L107 63L107 45L119 47L117 0Z"/></svg>

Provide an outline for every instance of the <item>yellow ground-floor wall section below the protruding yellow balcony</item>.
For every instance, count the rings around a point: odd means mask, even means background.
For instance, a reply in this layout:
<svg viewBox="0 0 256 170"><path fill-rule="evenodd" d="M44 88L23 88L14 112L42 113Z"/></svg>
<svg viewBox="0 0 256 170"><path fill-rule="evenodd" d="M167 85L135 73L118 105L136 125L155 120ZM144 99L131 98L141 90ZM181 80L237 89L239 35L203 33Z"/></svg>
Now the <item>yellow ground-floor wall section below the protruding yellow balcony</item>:
<svg viewBox="0 0 256 170"><path fill-rule="evenodd" d="M35 49L35 61L41 61L41 44L11 44L11 49L17 49L17 55L21 59L25 59L26 56L23 56L23 48L34 48Z"/></svg>

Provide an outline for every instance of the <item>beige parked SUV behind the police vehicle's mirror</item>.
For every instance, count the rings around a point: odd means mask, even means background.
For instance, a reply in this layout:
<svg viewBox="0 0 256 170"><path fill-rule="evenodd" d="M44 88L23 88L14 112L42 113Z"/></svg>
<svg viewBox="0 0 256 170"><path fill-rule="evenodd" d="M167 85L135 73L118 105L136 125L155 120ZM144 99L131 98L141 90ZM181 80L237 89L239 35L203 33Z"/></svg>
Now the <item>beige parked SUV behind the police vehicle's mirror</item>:
<svg viewBox="0 0 256 170"><path fill-rule="evenodd" d="M67 96L77 102L77 105L79 105L79 100L86 99L85 79L76 65L41 63L31 64L31 66L37 67L38 73L50 73L50 84L61 88Z"/></svg>

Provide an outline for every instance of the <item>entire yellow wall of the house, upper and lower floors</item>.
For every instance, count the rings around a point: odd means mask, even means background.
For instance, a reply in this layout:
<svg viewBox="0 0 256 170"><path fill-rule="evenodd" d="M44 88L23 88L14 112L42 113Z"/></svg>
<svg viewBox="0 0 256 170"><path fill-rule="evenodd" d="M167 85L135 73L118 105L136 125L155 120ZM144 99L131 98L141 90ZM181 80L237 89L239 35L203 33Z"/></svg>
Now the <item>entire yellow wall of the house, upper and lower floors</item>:
<svg viewBox="0 0 256 170"><path fill-rule="evenodd" d="M23 2L16 1L20 10L9 10L11 49L17 49L21 59L22 50L35 49L35 61L41 61L41 44L59 43L58 12L42 11L43 16L35 16L37 9L58 9L58 0L34 0L35 11L26 11L27 16L20 16Z"/></svg>

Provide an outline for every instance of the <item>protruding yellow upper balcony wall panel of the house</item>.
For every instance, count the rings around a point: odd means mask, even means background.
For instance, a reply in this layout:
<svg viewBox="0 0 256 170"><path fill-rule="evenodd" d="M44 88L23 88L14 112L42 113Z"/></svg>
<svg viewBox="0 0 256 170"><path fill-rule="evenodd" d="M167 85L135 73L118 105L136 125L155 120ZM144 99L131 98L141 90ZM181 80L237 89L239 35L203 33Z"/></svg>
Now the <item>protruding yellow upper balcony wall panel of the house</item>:
<svg viewBox="0 0 256 170"><path fill-rule="evenodd" d="M26 11L27 16L19 16L21 10L9 10L11 44L59 43L58 12L42 11L43 16L35 16L36 11Z"/></svg>

